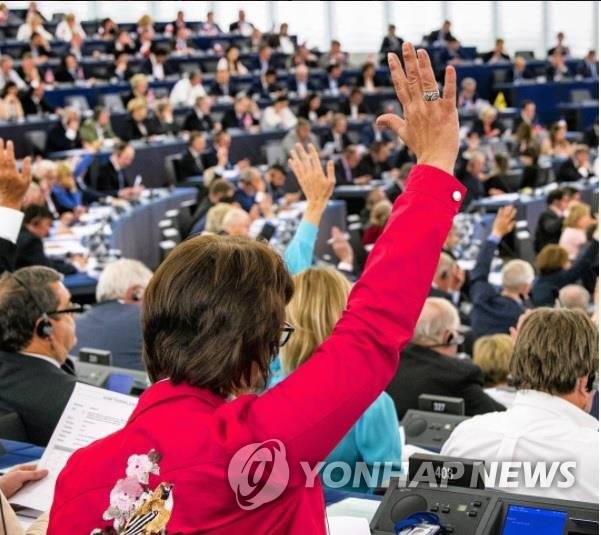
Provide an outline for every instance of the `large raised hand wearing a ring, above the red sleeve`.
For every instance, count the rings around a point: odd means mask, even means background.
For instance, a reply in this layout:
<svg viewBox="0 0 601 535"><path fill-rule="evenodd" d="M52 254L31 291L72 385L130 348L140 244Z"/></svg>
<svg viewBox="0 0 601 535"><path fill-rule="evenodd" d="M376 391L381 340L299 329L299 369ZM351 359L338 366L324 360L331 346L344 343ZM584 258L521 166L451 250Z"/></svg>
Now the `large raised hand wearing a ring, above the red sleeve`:
<svg viewBox="0 0 601 535"><path fill-rule="evenodd" d="M455 69L447 66L441 98L433 101L425 97L438 92L438 84L425 50L403 43L405 70L396 54L388 54L388 66L403 107L403 118L386 113L378 118L378 125L394 130L417 156L418 164L438 167L453 173L459 150L459 116L456 104Z"/></svg>

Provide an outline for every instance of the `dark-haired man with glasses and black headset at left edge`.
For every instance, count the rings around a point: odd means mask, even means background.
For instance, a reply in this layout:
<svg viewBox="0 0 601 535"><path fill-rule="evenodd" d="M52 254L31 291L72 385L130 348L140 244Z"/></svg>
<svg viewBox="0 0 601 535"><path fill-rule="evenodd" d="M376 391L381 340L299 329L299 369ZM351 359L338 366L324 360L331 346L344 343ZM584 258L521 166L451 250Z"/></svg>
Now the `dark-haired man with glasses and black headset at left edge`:
<svg viewBox="0 0 601 535"><path fill-rule="evenodd" d="M27 442L38 446L48 444L75 387L67 359L76 310L53 269L0 277L0 411L16 412Z"/></svg>

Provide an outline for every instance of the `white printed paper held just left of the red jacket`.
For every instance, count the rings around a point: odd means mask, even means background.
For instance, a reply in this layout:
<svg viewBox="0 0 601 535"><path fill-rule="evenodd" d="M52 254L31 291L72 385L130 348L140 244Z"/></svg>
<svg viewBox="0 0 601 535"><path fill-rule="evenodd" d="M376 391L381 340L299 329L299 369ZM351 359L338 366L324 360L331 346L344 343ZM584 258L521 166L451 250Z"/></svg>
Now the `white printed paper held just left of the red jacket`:
<svg viewBox="0 0 601 535"><path fill-rule="evenodd" d="M121 429L137 401L131 396L76 383L38 463L38 468L48 469L48 476L24 487L10 502L39 512L50 509L56 479L71 454Z"/></svg>

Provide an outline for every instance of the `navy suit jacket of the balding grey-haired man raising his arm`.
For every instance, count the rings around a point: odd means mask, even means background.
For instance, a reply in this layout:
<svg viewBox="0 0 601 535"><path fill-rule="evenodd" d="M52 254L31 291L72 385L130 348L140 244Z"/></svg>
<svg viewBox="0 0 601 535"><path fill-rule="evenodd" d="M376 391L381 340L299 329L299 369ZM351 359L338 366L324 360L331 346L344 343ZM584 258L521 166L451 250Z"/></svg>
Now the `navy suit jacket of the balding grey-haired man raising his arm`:
<svg viewBox="0 0 601 535"><path fill-rule="evenodd" d="M509 334L509 327L517 325L525 306L514 299L502 296L488 282L490 265L495 256L497 244L486 239L480 247L476 267L470 274L470 297L472 309L472 330L474 338L487 334Z"/></svg>

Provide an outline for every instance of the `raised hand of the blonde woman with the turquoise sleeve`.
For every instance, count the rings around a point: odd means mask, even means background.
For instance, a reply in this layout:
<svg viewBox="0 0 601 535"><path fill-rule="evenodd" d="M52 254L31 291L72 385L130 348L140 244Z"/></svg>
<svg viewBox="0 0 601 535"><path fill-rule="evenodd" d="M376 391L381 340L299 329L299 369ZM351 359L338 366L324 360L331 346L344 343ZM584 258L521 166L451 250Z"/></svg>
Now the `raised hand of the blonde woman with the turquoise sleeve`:
<svg viewBox="0 0 601 535"><path fill-rule="evenodd" d="M288 165L307 198L304 219L318 225L336 184L334 162L328 161L327 172L324 173L315 147L309 145L307 152L300 143L297 143L296 147L290 151Z"/></svg>

